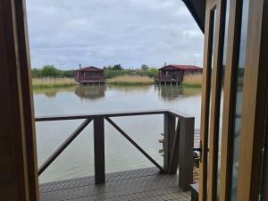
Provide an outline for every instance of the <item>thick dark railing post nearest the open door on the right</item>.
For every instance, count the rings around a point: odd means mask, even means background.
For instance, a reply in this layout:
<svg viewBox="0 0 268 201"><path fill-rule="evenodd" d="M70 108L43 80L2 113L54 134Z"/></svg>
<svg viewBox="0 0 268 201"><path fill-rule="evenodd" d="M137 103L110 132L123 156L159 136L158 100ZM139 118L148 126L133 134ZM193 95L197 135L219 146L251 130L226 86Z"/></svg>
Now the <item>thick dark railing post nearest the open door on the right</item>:
<svg viewBox="0 0 268 201"><path fill-rule="evenodd" d="M195 118L180 117L179 187L186 191L193 183Z"/></svg>

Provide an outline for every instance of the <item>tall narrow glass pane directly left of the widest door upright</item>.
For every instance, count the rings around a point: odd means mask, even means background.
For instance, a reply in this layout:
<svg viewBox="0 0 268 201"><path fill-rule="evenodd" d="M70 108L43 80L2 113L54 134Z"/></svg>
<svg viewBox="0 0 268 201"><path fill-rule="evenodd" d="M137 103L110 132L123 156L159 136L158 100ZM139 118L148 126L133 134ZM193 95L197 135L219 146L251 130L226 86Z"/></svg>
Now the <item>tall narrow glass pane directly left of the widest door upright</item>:
<svg viewBox="0 0 268 201"><path fill-rule="evenodd" d="M233 149L232 149L232 174L230 186L230 200L237 199L238 175L239 175L239 141L241 130L241 115L243 102L243 79L246 63L247 52L247 19L249 0L242 1L241 27L239 39L239 61L236 67L235 79L235 111L234 111L234 127L233 127Z"/></svg>

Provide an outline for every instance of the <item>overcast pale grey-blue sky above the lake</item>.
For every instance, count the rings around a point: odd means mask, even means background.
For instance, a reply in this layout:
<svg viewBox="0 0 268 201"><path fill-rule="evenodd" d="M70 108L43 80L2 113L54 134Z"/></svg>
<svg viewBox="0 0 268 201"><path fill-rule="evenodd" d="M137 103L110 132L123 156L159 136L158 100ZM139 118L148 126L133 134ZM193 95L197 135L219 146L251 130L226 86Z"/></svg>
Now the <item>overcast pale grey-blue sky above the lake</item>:
<svg viewBox="0 0 268 201"><path fill-rule="evenodd" d="M204 35L181 0L27 0L31 66L202 65Z"/></svg>

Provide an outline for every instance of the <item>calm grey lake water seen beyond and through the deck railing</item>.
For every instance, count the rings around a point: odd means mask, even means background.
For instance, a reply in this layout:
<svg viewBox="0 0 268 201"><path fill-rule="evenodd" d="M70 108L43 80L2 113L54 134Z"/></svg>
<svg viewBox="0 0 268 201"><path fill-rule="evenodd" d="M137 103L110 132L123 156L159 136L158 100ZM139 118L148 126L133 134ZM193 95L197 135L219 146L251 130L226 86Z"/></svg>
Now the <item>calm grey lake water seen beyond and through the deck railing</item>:
<svg viewBox="0 0 268 201"><path fill-rule="evenodd" d="M175 109L196 118L200 127L201 89L180 86L88 86L34 91L36 116L107 113L133 110ZM163 115L113 118L140 147L163 164L158 142L163 133ZM61 145L82 121L37 122L38 165ZM105 171L120 172L154 166L129 141L105 122ZM83 130L62 155L39 177L39 182L94 175L93 126Z"/></svg>

